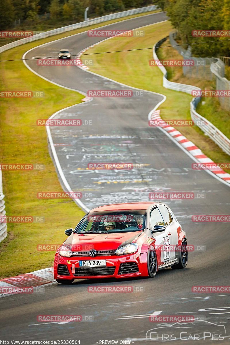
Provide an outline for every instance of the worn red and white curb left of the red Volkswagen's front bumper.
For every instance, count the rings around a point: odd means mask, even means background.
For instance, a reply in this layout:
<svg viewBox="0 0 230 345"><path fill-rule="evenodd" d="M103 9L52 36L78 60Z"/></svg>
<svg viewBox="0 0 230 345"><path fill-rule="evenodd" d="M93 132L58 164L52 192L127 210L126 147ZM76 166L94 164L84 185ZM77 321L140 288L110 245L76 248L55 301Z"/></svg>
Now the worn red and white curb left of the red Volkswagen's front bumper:
<svg viewBox="0 0 230 345"><path fill-rule="evenodd" d="M38 286L41 288L54 282L52 267L4 278L0 280L0 297L18 293L36 293L36 289L33 288Z"/></svg>

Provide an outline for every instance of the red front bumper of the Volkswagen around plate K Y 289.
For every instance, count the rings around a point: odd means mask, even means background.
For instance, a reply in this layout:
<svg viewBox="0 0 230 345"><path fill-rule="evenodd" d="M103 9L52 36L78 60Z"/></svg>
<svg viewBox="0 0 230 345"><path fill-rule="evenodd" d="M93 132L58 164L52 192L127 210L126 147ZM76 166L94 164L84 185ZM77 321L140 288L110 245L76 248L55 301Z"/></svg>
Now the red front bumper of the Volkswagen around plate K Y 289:
<svg viewBox="0 0 230 345"><path fill-rule="evenodd" d="M88 270L88 268L86 267L82 269L82 267L80 267L79 265L80 260L106 260L106 266L101 266L104 267L103 269L94 268ZM122 265L124 263L127 263L128 265ZM140 254L139 252L134 253L132 255L96 256L93 258L91 256L68 258L57 254L54 260L54 279L119 279L126 277L148 276L148 269L146 263L147 253ZM65 265L67 267L66 273L68 275L60 274L60 268L58 269L58 265ZM124 266L135 267L135 269L121 269L121 267L123 268ZM85 272L87 272L88 274Z"/></svg>

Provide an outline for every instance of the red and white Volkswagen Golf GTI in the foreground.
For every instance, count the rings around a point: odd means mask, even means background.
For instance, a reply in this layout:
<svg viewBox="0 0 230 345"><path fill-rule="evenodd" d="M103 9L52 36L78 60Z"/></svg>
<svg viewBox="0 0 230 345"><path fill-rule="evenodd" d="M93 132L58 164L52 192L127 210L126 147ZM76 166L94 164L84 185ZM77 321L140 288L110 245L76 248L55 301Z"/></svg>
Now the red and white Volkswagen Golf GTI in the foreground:
<svg viewBox="0 0 230 345"><path fill-rule="evenodd" d="M57 250L54 278L154 277L159 269L185 268L186 233L166 204L131 203L92 209Z"/></svg>

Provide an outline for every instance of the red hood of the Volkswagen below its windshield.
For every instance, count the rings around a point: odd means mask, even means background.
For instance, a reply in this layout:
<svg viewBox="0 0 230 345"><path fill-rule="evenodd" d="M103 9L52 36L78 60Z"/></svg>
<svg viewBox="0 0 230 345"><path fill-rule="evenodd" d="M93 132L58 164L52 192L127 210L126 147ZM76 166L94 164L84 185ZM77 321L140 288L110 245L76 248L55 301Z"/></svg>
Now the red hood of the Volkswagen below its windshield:
<svg viewBox="0 0 230 345"><path fill-rule="evenodd" d="M136 239L142 231L132 231L120 234L72 234L63 243L68 245L72 251L84 251L90 249L96 250L113 250L117 249L121 244L129 244ZM124 243L125 242L125 243Z"/></svg>

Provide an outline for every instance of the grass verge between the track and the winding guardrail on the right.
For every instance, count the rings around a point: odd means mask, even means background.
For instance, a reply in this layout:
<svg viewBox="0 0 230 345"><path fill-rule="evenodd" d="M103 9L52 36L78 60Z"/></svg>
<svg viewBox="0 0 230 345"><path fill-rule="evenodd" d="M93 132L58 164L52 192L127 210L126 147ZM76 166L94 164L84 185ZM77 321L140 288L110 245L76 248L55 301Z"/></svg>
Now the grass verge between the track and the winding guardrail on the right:
<svg viewBox="0 0 230 345"><path fill-rule="evenodd" d="M147 26L143 28L143 30L145 32L143 37L114 37L90 48L90 50L87 51L87 54L110 51L111 46L113 51L150 48L154 43L168 36L172 27L169 22L164 22ZM164 45L167 45L166 43L167 42L165 42ZM164 51L164 49L166 48L159 49L159 51L163 51L162 56L167 54L167 51ZM92 56L94 58L94 65L90 67L91 71L126 85L166 95L167 100L160 106L161 116L164 120L191 120L190 101L192 100L192 96L187 93L165 89L162 86L162 72L157 66L149 66L149 60L152 59L152 49L98 54ZM90 55L88 55L88 57L90 58ZM172 53L170 58L173 58ZM180 79L180 71L175 70L173 73L174 79ZM191 79L185 82L185 78L183 78L180 82L196 85L193 84L193 80ZM230 162L229 156L225 154L210 138L205 136L198 127L178 127L178 130L189 140L193 141L194 144L213 161ZM230 170L226 171L230 172Z"/></svg>

